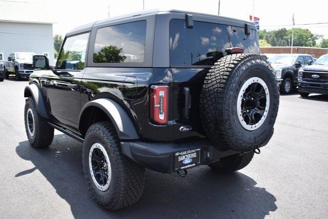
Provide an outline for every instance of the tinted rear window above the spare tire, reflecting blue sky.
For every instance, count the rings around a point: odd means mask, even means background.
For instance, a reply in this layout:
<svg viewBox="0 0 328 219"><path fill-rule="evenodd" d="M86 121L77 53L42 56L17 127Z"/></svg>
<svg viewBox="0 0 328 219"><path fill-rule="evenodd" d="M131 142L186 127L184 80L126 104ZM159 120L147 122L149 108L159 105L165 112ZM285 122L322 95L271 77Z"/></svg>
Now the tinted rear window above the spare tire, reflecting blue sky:
<svg viewBox="0 0 328 219"><path fill-rule="evenodd" d="M230 47L259 54L256 30L245 35L241 27L194 21L194 27L187 28L184 19L170 21L171 65L213 65Z"/></svg>

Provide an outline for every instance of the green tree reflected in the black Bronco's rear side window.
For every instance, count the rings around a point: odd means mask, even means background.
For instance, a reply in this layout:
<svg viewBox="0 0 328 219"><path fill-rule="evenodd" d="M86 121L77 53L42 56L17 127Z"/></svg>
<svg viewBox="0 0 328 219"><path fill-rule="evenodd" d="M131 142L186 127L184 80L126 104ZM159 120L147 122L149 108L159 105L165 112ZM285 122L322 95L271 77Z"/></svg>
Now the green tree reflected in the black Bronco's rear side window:
<svg viewBox="0 0 328 219"><path fill-rule="evenodd" d="M122 63L127 58L125 55L120 55L121 48L117 46L104 46L98 53L93 53L94 63Z"/></svg>

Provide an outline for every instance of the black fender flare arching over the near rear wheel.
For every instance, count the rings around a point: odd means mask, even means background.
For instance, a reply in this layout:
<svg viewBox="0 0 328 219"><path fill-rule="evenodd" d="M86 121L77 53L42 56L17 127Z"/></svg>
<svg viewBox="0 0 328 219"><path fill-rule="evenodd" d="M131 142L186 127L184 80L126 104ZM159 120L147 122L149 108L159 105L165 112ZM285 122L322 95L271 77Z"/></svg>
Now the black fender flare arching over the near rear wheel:
<svg viewBox="0 0 328 219"><path fill-rule="evenodd" d="M109 98L99 98L87 103L80 112L78 127L81 130L83 122L81 118L88 107L97 107L103 110L113 123L118 137L121 140L137 140L139 135L129 117L128 113L116 101Z"/></svg>

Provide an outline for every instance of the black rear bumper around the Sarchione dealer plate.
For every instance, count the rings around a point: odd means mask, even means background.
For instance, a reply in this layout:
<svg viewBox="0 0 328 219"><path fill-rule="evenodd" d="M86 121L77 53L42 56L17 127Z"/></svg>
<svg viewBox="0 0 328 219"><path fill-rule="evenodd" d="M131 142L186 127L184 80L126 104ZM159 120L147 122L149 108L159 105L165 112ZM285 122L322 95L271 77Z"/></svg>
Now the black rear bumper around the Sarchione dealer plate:
<svg viewBox="0 0 328 219"><path fill-rule="evenodd" d="M207 165L221 157L240 153L234 150L219 151L206 141L190 143L147 143L140 141L121 142L122 152L138 164L162 173L175 172L174 153L201 148L200 163L193 166ZM186 168L187 169L187 168Z"/></svg>

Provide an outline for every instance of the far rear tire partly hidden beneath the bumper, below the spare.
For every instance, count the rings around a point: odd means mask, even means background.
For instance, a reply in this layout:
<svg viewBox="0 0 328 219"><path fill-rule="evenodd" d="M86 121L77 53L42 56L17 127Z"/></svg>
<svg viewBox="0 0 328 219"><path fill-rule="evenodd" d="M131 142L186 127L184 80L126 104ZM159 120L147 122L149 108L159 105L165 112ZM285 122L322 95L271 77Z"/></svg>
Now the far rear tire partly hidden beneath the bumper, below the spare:
<svg viewBox="0 0 328 219"><path fill-rule="evenodd" d="M254 152L244 152L221 158L219 161L209 165L214 171L230 173L238 171L251 163Z"/></svg>

